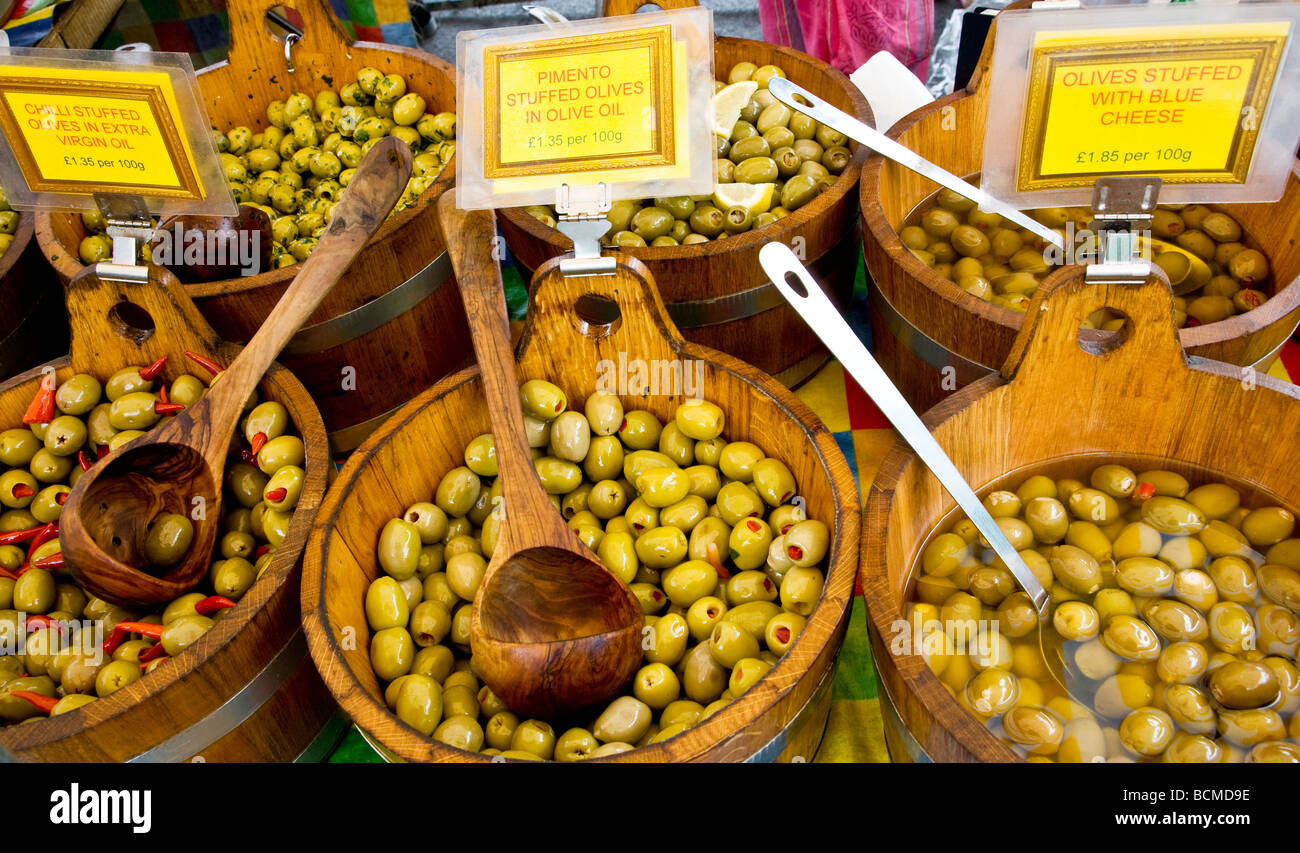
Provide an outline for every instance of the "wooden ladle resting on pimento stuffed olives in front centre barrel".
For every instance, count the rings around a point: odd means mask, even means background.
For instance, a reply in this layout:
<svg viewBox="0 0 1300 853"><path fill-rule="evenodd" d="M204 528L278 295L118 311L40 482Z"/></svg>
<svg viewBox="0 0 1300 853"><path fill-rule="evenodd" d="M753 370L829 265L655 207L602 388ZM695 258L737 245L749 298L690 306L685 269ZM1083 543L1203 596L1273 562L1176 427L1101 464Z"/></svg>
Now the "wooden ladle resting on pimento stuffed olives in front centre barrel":
<svg viewBox="0 0 1300 853"><path fill-rule="evenodd" d="M478 356L497 445L500 533L474 596L474 672L516 714L555 719L614 698L641 664L645 616L632 590L551 505L524 436L497 218L438 202ZM542 377L538 377L542 378Z"/></svg>

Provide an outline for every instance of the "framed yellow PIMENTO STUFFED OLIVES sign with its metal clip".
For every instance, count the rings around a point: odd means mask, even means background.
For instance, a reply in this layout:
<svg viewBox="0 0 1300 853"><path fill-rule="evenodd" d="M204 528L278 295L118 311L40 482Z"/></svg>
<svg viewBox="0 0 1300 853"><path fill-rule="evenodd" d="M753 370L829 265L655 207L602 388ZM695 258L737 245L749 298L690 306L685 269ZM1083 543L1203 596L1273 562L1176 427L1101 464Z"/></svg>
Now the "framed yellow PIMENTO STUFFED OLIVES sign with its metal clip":
<svg viewBox="0 0 1300 853"><path fill-rule="evenodd" d="M456 39L456 207L552 204L572 274L601 257L615 198L714 186L712 13L551 21Z"/></svg>

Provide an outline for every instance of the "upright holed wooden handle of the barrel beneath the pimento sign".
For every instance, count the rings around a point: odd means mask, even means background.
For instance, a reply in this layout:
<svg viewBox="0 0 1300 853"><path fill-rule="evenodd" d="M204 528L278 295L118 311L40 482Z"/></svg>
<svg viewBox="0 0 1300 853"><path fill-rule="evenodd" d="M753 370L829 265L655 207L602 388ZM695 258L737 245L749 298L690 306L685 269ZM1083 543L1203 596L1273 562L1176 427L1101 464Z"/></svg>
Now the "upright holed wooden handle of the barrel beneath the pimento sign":
<svg viewBox="0 0 1300 853"><path fill-rule="evenodd" d="M602 361L642 360L670 363L681 358L684 341L668 317L659 290L645 264L620 257L612 276L566 276L560 259L551 259L533 277L524 334L516 354L524 373L559 376L558 361L572 363L575 354L589 352L593 374ZM607 329L581 329L575 307L595 296L618 306L619 321Z"/></svg>

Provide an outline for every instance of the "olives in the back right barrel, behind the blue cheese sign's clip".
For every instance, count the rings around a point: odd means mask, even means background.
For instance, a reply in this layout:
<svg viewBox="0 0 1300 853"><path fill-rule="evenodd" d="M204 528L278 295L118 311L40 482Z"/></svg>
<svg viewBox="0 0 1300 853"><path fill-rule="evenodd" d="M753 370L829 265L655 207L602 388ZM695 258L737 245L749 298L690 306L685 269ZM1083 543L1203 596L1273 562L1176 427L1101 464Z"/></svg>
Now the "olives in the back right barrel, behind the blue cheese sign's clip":
<svg viewBox="0 0 1300 853"><path fill-rule="evenodd" d="M1072 224L1079 234L1092 220L1092 212L1084 207L1049 207L1026 213L1067 241L1067 225ZM1242 225L1231 215L1204 204L1164 204L1152 216L1150 231L1209 267L1209 277L1201 286L1174 298L1179 328L1218 322L1268 302L1269 260L1264 252L1245 246ZM1039 282L1057 268L1045 257L1046 244L1037 234L979 209L948 189L918 204L898 237L927 267L966 293L1020 313L1028 308ZM1080 247L1096 255L1093 239ZM1179 251L1156 247L1152 255L1175 287L1196 274L1187 255ZM1123 322L1123 317L1101 309L1083 325L1118 330Z"/></svg>

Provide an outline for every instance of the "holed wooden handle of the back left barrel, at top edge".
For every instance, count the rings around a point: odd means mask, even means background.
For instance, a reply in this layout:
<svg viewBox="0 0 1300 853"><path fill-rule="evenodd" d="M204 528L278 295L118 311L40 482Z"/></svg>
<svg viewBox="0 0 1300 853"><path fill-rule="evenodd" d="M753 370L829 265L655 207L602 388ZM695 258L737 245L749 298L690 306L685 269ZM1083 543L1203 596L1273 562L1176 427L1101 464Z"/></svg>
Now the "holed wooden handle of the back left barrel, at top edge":
<svg viewBox="0 0 1300 853"><path fill-rule="evenodd" d="M289 72L285 42L266 30L266 12L277 5L289 7L303 20L303 38L292 47L294 72ZM339 26L334 10L326 0L226 0L230 17L230 59L229 64L239 68L255 68L263 74L277 69L296 73L309 69L309 57L347 56L352 40ZM316 94L312 88L311 94Z"/></svg>

